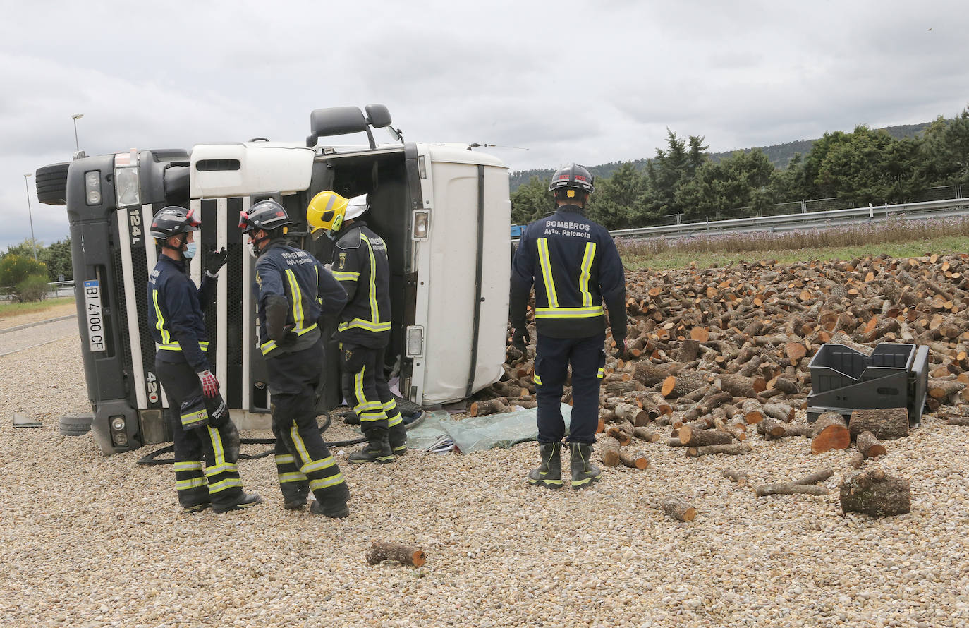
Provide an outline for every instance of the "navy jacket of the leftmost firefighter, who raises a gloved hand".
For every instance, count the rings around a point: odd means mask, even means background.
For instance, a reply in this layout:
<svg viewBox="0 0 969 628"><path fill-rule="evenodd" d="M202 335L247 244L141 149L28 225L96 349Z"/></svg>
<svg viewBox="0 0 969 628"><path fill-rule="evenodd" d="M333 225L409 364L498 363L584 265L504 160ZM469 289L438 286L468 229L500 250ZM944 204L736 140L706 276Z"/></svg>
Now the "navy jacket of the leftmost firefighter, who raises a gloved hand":
<svg viewBox="0 0 969 628"><path fill-rule="evenodd" d="M148 277L148 325L157 358L188 362L195 372L209 368L203 308L215 298L215 279L203 275L196 288L185 274L185 263L162 255Z"/></svg>

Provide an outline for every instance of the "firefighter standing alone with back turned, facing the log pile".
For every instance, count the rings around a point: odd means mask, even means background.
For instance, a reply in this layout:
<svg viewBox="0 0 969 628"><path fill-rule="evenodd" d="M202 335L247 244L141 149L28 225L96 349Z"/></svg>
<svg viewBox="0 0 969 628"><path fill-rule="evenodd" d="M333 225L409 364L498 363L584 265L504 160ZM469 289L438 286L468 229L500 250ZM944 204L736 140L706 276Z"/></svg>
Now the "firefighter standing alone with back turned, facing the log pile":
<svg viewBox="0 0 969 628"><path fill-rule="evenodd" d="M572 487L588 487L601 477L590 455L606 362L603 303L609 308L612 338L625 354L626 281L609 232L583 213L593 190L592 176L581 166L572 164L556 172L548 186L556 210L528 225L512 267L513 342L522 351L530 340L525 313L535 286L535 392L542 461L528 474L534 486L563 486L560 452L565 422L560 403L570 364Z"/></svg>

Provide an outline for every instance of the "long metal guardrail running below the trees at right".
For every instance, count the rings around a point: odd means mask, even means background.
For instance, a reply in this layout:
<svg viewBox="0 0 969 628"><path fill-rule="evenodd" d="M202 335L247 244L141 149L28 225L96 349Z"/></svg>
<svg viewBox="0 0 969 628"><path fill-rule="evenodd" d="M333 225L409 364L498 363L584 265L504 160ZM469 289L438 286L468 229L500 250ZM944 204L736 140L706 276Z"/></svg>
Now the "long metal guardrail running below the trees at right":
<svg viewBox="0 0 969 628"><path fill-rule="evenodd" d="M853 209L830 209L808 213L782 214L779 216L753 216L730 220L708 220L705 222L683 223L681 225L659 225L640 229L618 229L610 231L615 237L635 235L639 237L673 237L699 235L701 233L726 233L744 231L786 231L791 229L813 229L834 225L864 222L889 216L928 218L931 216L953 216L969 214L969 198L926 201L923 203L902 203L892 205L869 205Z"/></svg>

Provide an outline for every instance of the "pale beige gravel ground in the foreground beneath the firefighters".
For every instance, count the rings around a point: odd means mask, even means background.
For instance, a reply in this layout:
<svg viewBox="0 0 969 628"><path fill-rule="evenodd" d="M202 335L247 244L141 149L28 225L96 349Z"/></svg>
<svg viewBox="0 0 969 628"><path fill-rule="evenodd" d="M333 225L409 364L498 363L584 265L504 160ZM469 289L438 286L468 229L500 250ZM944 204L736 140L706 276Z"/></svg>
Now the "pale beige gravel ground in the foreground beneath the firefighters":
<svg viewBox="0 0 969 628"><path fill-rule="evenodd" d="M104 457L90 436L60 436L60 415L89 410L77 337L0 358L0 404L2 625L969 623L967 432L935 417L887 443L881 464L912 482L913 512L900 517L840 515L847 453L755 435L747 456L641 444L648 469L605 469L582 492L526 486L534 443L343 465L352 513L330 520L282 510L271 458L239 464L265 504L184 515L171 467L136 463L152 450ZM44 427L14 428L14 412ZM758 484L826 466L827 497L758 498L720 473ZM670 494L700 515L666 518ZM377 539L413 543L427 564L369 566Z"/></svg>

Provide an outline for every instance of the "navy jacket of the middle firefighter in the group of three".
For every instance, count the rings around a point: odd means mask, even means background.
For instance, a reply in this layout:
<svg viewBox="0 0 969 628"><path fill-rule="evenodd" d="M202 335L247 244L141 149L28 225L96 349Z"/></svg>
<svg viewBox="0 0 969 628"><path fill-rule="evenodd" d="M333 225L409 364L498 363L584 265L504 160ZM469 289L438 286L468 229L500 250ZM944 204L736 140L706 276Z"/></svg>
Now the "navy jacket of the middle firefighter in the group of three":
<svg viewBox="0 0 969 628"><path fill-rule="evenodd" d="M275 239L266 245L256 261L256 283L253 286L259 302L259 345L267 358L305 349L320 337L317 320L321 314L336 314L347 302L339 282L319 260L306 251ZM296 343L280 347L269 337L267 308L273 299L286 298L286 327L297 334Z"/></svg>

